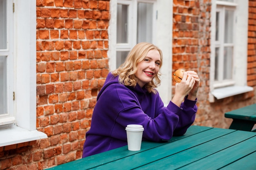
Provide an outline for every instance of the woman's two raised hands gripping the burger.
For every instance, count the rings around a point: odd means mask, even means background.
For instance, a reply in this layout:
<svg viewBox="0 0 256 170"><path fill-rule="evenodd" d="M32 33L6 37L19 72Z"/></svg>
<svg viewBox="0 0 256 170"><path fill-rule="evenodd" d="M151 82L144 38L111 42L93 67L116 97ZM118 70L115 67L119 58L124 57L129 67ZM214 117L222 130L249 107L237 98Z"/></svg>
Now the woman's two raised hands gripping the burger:
<svg viewBox="0 0 256 170"><path fill-rule="evenodd" d="M200 79L195 71L184 72L181 82L175 84L175 93L172 102L180 106L186 95L189 95L189 100L195 100L199 85Z"/></svg>

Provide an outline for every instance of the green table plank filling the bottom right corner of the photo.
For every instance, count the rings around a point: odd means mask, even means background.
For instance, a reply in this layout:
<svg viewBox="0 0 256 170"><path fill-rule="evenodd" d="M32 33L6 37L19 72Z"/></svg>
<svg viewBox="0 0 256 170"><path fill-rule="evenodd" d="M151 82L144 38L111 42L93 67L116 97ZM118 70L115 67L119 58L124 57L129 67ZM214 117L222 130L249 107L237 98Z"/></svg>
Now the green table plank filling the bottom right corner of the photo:
<svg viewBox="0 0 256 170"><path fill-rule="evenodd" d="M256 151L238 161L229 164L228 166L220 168L220 170L256 170L255 160Z"/></svg>

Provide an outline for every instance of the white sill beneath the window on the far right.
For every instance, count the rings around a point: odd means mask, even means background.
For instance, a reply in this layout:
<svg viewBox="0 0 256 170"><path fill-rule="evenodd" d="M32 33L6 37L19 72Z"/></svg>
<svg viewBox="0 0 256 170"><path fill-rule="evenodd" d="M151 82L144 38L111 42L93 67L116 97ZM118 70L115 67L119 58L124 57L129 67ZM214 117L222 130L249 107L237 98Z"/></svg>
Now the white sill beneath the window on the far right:
<svg viewBox="0 0 256 170"><path fill-rule="evenodd" d="M246 93L249 91L253 91L254 88L250 86L228 86L222 88L216 88L211 91L211 94L217 99L223 99L225 97L230 97L242 93Z"/></svg>

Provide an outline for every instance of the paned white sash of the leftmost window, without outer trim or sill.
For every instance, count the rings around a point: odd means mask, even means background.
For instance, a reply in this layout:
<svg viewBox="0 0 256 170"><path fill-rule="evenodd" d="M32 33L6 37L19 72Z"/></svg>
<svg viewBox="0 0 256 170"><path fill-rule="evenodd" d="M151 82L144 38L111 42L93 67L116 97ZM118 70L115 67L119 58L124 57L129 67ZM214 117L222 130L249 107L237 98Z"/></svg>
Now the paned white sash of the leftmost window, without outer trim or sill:
<svg viewBox="0 0 256 170"><path fill-rule="evenodd" d="M0 1L0 125L15 121L13 115L13 18L12 3Z"/></svg>

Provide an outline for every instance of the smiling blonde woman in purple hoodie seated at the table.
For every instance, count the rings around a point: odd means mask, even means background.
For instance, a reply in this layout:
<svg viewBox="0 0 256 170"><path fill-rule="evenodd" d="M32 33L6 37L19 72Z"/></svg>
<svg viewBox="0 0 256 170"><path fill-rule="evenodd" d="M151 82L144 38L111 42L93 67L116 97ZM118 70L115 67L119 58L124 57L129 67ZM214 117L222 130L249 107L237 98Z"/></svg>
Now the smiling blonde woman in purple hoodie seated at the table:
<svg viewBox="0 0 256 170"><path fill-rule="evenodd" d="M200 79L186 71L168 106L155 90L162 66L162 51L153 44L137 44L126 61L108 74L97 97L91 128L86 133L83 157L127 145L126 126L144 127L143 140L159 142L183 135L193 124Z"/></svg>

